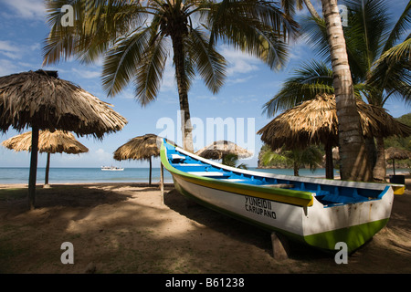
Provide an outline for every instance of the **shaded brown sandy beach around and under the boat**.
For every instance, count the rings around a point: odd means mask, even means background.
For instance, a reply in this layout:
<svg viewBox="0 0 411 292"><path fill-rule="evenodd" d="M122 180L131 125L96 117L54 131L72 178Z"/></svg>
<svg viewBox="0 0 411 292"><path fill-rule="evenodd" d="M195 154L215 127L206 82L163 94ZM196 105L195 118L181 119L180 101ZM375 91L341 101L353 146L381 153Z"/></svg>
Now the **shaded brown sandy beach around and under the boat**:
<svg viewBox="0 0 411 292"><path fill-rule="evenodd" d="M144 183L37 186L27 211L26 185L0 185L0 274L411 273L411 179L372 241L337 265L333 255L291 245L272 256L270 235L165 186ZM63 265L62 243L74 247Z"/></svg>

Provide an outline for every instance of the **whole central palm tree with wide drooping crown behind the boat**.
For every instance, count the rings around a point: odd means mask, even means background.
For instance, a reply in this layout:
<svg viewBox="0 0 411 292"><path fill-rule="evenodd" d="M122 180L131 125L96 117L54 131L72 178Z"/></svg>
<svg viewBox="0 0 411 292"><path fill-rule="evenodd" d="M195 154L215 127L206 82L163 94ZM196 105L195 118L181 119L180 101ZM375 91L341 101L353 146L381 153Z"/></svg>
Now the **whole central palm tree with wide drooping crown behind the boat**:
<svg viewBox="0 0 411 292"><path fill-rule="evenodd" d="M228 43L280 68L297 24L272 2L259 0L72 1L74 26L61 26L66 1L47 1L51 26L44 63L104 56L103 87L114 96L130 82L142 106L156 99L166 59L173 53L184 149L193 151L188 90L198 73L213 93L224 84L227 63L216 43ZM170 46L171 45L171 46Z"/></svg>

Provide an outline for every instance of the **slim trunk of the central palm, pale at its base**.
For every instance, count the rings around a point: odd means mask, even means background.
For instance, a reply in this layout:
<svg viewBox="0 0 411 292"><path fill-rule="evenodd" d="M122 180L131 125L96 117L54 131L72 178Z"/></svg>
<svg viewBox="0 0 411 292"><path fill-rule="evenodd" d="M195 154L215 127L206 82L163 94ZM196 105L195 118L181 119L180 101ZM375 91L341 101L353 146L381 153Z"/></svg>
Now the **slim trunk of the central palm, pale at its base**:
<svg viewBox="0 0 411 292"><path fill-rule="evenodd" d="M184 66L184 46L183 37L176 34L172 36L174 50L175 77L177 79L178 95L180 99L181 127L183 133L183 148L186 151L194 152L193 133L190 120L190 108L188 105L188 89Z"/></svg>

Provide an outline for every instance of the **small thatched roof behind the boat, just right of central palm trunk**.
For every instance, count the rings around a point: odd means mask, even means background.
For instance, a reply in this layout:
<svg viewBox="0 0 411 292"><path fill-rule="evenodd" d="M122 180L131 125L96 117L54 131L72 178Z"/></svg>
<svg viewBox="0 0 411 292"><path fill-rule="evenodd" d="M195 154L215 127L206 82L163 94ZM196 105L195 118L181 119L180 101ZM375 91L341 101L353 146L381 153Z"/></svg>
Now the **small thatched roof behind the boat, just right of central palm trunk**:
<svg viewBox="0 0 411 292"><path fill-rule="evenodd" d="M222 159L224 155L236 154L238 158L248 158L253 155L252 152L239 147L231 141L215 141L205 148L195 152L196 155L207 159Z"/></svg>

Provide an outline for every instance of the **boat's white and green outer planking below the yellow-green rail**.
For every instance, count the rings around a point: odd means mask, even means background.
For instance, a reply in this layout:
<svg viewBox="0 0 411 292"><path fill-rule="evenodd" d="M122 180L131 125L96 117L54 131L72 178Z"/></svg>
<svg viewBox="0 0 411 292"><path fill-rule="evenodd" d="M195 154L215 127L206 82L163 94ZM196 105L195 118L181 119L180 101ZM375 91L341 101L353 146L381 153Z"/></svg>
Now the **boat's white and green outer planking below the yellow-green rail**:
<svg viewBox="0 0 411 292"><path fill-rule="evenodd" d="M393 198L392 193L387 193L386 204L342 205L324 212L315 206L301 207L261 198L258 203L245 194L210 189L184 181L178 175L173 178L179 193L207 208L316 248L335 250L335 245L343 242L349 253L364 245L387 224ZM328 224L324 226L324 223ZM315 228L319 224L321 228Z"/></svg>

